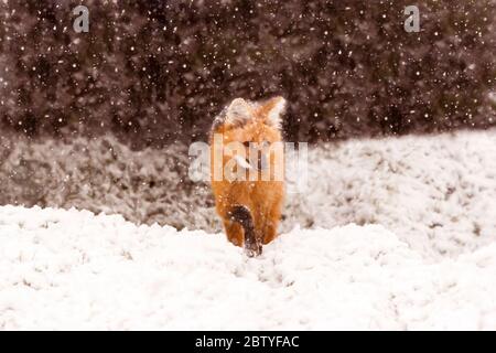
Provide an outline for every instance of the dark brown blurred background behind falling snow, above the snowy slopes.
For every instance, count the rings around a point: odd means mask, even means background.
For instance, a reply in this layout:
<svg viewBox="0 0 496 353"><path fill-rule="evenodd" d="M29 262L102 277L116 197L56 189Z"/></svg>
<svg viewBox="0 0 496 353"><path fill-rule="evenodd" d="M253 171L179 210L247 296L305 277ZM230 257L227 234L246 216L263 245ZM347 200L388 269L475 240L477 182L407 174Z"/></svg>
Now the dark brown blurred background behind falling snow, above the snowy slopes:
<svg viewBox="0 0 496 353"><path fill-rule="evenodd" d="M492 0L0 2L0 127L160 148L204 139L234 97L280 94L291 140L485 128L495 19Z"/></svg>

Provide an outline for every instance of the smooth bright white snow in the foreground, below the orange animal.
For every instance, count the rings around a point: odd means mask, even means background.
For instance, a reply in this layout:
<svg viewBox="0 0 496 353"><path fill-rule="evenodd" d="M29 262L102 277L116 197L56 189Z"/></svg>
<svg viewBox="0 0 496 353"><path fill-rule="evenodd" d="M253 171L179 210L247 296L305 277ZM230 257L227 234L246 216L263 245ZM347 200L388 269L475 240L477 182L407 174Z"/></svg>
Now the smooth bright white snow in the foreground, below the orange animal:
<svg viewBox="0 0 496 353"><path fill-rule="evenodd" d="M219 234L0 207L0 329L495 329L496 244L427 261L382 226Z"/></svg>

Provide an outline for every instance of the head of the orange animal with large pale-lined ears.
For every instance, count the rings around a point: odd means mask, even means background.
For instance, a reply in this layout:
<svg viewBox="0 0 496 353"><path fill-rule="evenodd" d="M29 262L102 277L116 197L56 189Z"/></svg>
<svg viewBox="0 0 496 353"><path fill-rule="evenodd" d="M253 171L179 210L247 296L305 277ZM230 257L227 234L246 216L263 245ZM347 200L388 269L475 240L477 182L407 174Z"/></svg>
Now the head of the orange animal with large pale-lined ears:
<svg viewBox="0 0 496 353"><path fill-rule="evenodd" d="M263 103L236 98L224 109L214 121L212 146L213 151L222 148L217 153L224 156L223 163L227 169L241 175L247 170L267 171L270 180L281 179L280 128L284 107L282 97ZM216 140L215 137L220 136L220 141Z"/></svg>

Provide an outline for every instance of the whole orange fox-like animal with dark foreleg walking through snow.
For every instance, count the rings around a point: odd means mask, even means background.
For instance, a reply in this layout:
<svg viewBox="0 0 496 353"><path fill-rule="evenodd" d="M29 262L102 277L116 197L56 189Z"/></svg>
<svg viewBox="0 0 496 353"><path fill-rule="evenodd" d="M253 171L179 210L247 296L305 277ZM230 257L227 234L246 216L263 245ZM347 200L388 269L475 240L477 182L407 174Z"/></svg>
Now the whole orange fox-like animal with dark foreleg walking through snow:
<svg viewBox="0 0 496 353"><path fill-rule="evenodd" d="M284 197L280 131L284 107L282 97L263 103L236 98L212 127L211 181L216 210L228 240L244 246L250 257L260 255L262 244L277 237Z"/></svg>

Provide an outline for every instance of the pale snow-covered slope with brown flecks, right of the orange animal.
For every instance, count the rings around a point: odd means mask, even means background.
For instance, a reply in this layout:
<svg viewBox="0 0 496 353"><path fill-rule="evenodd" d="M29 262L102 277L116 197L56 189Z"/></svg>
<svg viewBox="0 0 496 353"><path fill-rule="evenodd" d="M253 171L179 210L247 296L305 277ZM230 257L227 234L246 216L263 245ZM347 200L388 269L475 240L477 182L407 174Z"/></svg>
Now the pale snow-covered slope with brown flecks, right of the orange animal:
<svg viewBox="0 0 496 353"><path fill-rule="evenodd" d="M495 156L496 130L328 145L285 222L377 223L423 254L460 254L496 239Z"/></svg>

